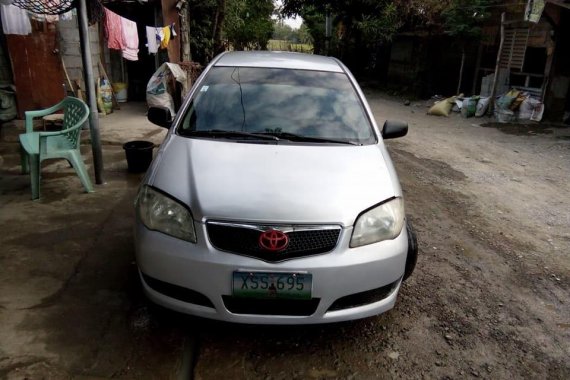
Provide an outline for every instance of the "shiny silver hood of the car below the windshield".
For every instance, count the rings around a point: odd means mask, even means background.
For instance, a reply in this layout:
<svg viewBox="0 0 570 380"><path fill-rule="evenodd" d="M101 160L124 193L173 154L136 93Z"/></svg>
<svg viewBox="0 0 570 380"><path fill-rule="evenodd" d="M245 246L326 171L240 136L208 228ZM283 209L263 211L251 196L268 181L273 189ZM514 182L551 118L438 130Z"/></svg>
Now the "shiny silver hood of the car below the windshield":
<svg viewBox="0 0 570 380"><path fill-rule="evenodd" d="M365 209L401 195L383 143L277 145L171 135L151 170L149 184L187 204L201 222L350 226Z"/></svg>

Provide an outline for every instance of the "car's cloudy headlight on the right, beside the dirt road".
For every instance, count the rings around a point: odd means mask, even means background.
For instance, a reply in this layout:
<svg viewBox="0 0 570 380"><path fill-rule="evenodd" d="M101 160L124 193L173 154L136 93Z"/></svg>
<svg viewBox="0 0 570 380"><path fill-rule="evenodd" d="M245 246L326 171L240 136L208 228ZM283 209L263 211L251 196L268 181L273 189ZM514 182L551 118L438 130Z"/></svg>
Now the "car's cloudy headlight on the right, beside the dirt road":
<svg viewBox="0 0 570 380"><path fill-rule="evenodd" d="M404 200L394 198L361 214L354 223L350 247L391 240L404 227Z"/></svg>

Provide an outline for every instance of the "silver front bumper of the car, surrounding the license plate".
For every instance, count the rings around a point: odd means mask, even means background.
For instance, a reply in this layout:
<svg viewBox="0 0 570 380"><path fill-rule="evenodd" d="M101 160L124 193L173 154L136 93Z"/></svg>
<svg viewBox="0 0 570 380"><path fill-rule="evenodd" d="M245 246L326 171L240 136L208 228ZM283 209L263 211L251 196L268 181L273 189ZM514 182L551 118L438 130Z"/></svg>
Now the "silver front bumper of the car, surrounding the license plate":
<svg viewBox="0 0 570 380"><path fill-rule="evenodd" d="M348 248L352 229L347 228L329 253L268 263L215 249L203 224L196 224L196 233L198 243L192 244L137 222L136 258L145 294L172 310L237 323L329 323L388 311L396 302L408 249L405 228L394 240L359 248ZM311 273L313 300L262 301L267 314L263 308L254 314L247 310L255 308L255 300L232 297L237 270Z"/></svg>

